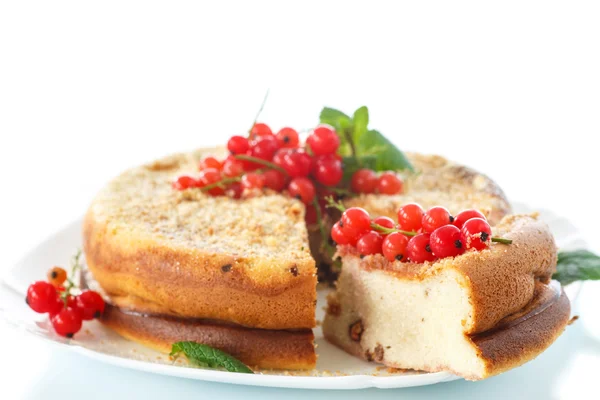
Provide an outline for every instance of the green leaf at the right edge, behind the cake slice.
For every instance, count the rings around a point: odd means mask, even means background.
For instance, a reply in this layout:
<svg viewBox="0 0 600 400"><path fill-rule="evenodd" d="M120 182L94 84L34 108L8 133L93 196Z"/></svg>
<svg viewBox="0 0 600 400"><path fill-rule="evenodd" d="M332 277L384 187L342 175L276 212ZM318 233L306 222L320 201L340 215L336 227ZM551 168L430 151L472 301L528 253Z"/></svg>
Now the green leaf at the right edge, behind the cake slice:
<svg viewBox="0 0 600 400"><path fill-rule="evenodd" d="M575 281L599 280L600 257L587 250L558 253L556 273L552 276L563 285Z"/></svg>

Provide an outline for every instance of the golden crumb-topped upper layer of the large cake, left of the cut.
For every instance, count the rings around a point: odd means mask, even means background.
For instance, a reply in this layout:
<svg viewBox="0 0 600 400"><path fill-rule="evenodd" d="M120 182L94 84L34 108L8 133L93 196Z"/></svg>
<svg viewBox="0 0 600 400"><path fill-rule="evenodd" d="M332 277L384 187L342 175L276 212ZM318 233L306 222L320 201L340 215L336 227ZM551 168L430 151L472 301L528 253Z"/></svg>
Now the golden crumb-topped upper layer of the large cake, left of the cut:
<svg viewBox="0 0 600 400"><path fill-rule="evenodd" d="M299 201L172 189L175 177L219 152L167 157L110 182L84 219L89 269L117 302L160 314L314 327L316 268Z"/></svg>

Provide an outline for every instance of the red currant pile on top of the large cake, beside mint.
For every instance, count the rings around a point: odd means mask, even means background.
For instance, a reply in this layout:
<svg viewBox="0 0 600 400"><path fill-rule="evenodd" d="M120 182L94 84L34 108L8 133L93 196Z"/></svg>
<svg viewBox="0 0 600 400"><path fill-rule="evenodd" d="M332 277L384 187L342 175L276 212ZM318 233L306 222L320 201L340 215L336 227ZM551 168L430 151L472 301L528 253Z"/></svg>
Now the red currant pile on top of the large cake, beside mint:
<svg viewBox="0 0 600 400"><path fill-rule="evenodd" d="M292 128L274 134L268 125L256 123L248 137L229 139L230 155L225 160L204 158L198 176L179 176L173 187L199 188L213 196L236 199L250 190L287 190L290 196L310 205L316 196L329 193L326 188L342 181L339 146L336 131L328 125L316 127L303 145ZM353 175L351 187L356 193L395 194L402 190L402 181L392 172L377 176L372 170L361 169Z"/></svg>

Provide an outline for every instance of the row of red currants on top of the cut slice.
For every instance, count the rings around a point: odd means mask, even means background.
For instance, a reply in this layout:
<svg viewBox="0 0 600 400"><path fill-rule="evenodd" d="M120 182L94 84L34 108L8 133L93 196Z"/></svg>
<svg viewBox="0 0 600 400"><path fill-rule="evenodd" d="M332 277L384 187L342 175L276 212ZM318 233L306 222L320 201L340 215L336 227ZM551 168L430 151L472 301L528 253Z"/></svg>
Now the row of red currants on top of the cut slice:
<svg viewBox="0 0 600 400"><path fill-rule="evenodd" d="M511 243L492 238L489 223L477 210L465 210L452 217L444 207L424 211L415 203L398 210L398 223L388 217L372 220L359 207L344 210L331 229L331 237L337 244L356 247L361 256L383 254L390 262L415 263L455 257L470 249L483 250L492 241Z"/></svg>

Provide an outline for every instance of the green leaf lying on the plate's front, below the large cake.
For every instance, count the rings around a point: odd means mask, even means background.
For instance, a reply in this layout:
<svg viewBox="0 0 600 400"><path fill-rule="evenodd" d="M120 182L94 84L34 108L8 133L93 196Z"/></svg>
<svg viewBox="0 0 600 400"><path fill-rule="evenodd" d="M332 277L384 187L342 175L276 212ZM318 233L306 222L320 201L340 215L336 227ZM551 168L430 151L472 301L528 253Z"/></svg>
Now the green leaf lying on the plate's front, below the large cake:
<svg viewBox="0 0 600 400"><path fill-rule="evenodd" d="M190 363L209 368L225 368L229 372L253 374L246 364L229 354L196 342L177 342L171 347L171 356L183 353Z"/></svg>

